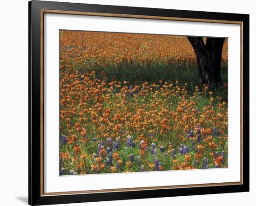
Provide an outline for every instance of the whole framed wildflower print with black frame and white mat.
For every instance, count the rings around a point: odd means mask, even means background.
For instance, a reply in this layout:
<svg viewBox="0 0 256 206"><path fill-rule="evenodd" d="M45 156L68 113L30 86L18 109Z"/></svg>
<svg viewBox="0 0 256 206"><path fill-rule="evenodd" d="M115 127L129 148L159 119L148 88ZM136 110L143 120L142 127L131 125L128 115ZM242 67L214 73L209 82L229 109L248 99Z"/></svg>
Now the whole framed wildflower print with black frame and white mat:
<svg viewBox="0 0 256 206"><path fill-rule="evenodd" d="M249 15L28 7L30 205L249 191Z"/></svg>

